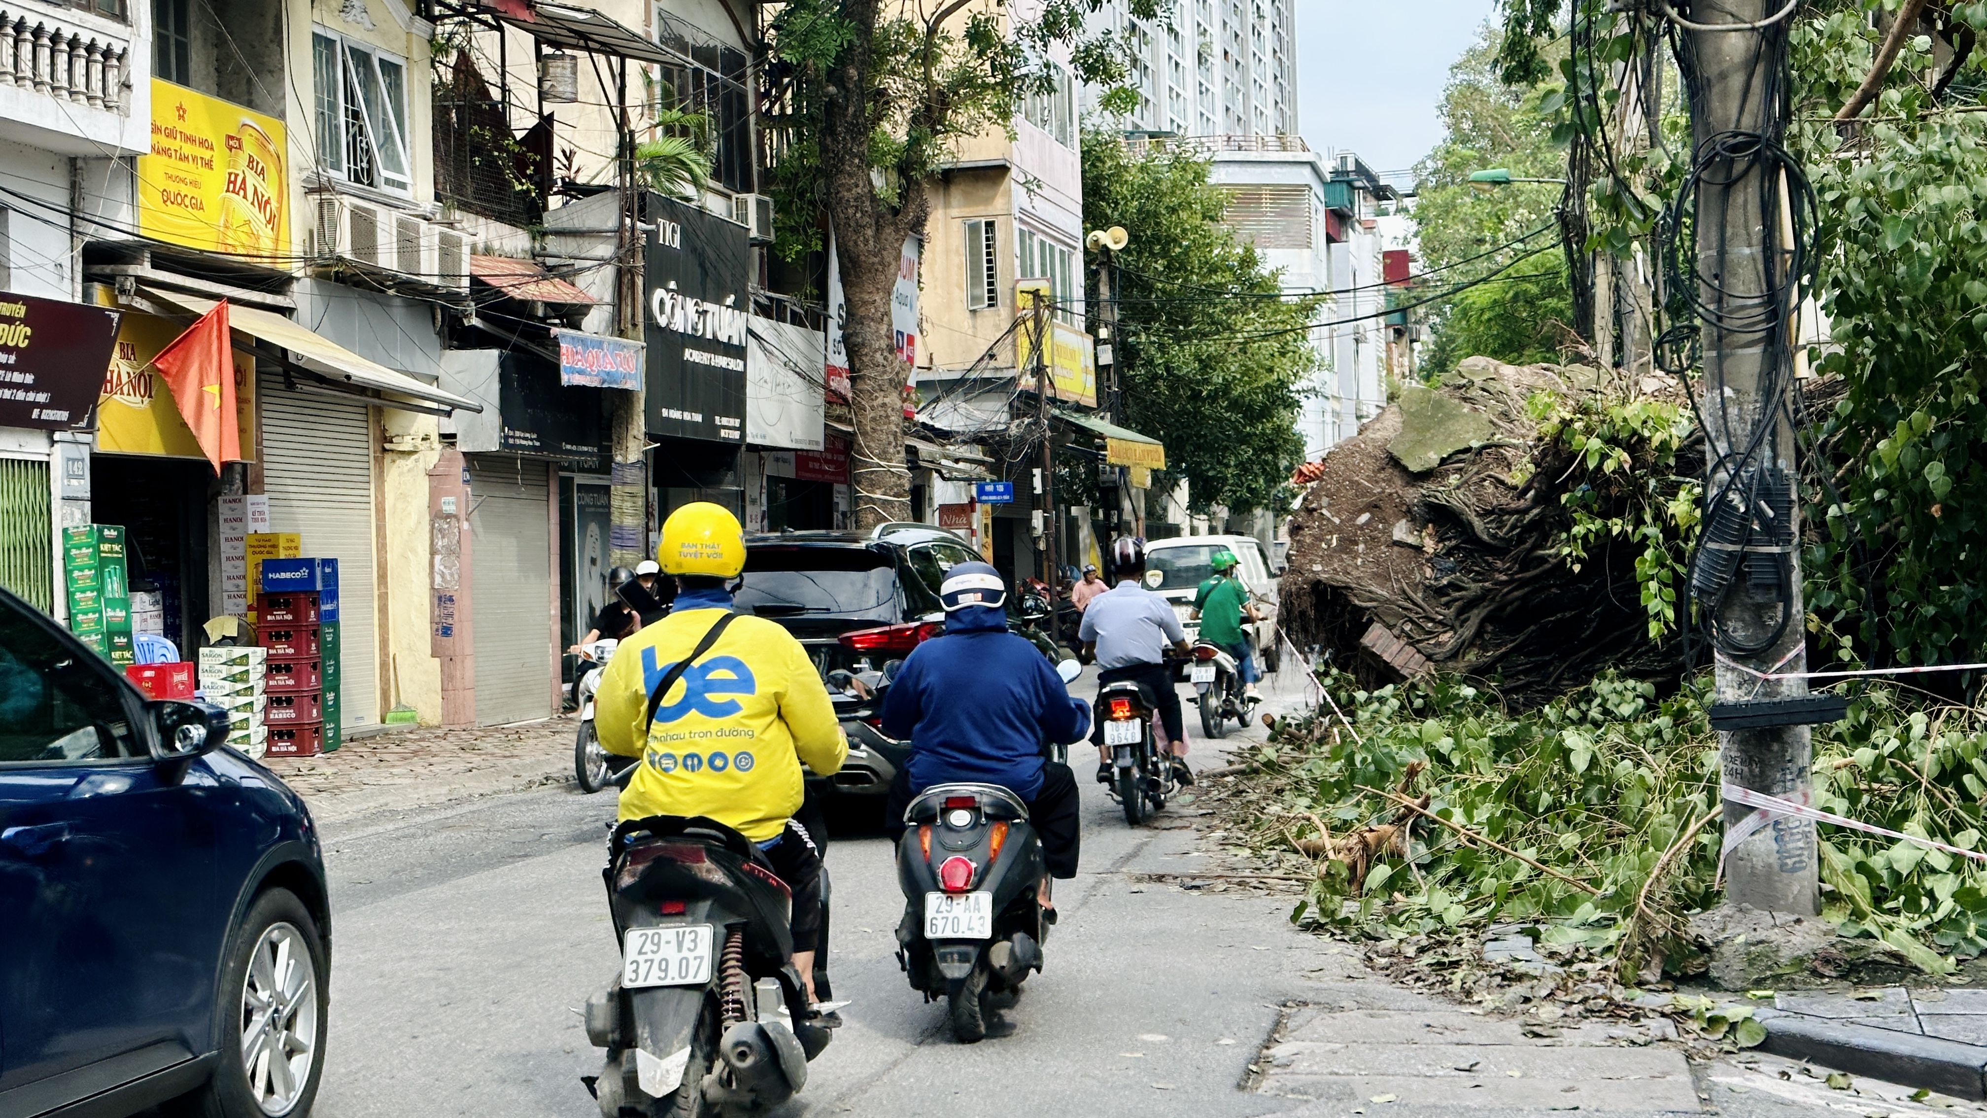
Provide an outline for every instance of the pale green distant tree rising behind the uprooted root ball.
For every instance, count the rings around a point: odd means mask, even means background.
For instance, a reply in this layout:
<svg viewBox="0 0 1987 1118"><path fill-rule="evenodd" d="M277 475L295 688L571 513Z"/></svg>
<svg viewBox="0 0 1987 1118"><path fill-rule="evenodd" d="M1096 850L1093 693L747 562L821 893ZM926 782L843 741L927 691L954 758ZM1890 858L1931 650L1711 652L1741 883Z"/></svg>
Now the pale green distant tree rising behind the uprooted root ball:
<svg viewBox="0 0 1987 1118"><path fill-rule="evenodd" d="M1512 364L1554 360L1574 338L1566 261L1554 245L1560 191L1546 183L1472 189L1470 171L1504 167L1520 179L1566 175L1566 151L1554 143L1540 101L1550 90L1506 86L1496 70L1500 32L1482 36L1454 66L1443 92L1443 141L1415 165L1415 233L1423 271L1441 290L1510 269L1516 280L1468 286L1431 310L1433 344L1423 360L1443 374L1466 356ZM1534 235L1528 241L1514 241ZM1544 249L1544 251L1540 251ZM1528 259L1524 253L1540 251Z"/></svg>

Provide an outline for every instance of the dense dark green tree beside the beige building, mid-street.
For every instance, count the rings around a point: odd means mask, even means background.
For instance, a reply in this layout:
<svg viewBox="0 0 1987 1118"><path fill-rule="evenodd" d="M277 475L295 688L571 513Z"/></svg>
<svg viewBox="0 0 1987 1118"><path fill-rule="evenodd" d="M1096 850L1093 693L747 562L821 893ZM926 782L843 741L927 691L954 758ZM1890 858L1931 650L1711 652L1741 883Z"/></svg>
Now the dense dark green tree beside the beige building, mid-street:
<svg viewBox="0 0 1987 1118"><path fill-rule="evenodd" d="M1222 225L1228 197L1184 147L1135 157L1083 135L1083 223L1123 225L1117 253L1127 422L1166 444L1198 511L1274 509L1303 460L1296 418L1317 366L1317 298L1288 298Z"/></svg>

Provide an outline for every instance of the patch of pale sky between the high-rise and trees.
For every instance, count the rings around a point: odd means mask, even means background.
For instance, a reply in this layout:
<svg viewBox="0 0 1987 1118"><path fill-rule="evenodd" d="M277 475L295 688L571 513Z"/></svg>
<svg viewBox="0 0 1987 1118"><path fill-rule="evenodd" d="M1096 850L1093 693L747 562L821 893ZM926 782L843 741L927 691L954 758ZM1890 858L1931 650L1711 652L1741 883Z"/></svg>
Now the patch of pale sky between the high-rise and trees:
<svg viewBox="0 0 1987 1118"><path fill-rule="evenodd" d="M1496 0L1298 0L1298 131L1407 171L1443 137L1449 66ZM1403 179L1405 181L1405 179Z"/></svg>

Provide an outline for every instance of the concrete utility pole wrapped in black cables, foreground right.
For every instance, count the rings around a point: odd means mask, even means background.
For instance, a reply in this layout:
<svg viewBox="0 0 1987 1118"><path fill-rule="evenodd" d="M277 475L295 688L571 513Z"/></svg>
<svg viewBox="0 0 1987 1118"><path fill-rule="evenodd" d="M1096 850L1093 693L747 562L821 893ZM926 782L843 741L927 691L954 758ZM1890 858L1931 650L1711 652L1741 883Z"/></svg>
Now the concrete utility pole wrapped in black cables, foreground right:
<svg viewBox="0 0 1987 1118"><path fill-rule="evenodd" d="M1786 131L1786 26L1768 20L1782 0L1693 4L1679 64L1689 82L1695 157L1697 302L1703 320L1705 529L1693 595L1705 605L1717 649L1719 704L1762 710L1798 702L1804 672L1792 380L1788 320L1796 277L1782 245L1792 223L1780 185ZM1729 28L1727 28L1729 26ZM1798 722L1798 718L1788 718ZM1780 800L1810 796L1806 724L1719 732L1727 784ZM1727 836L1755 814L1725 800ZM1814 824L1778 816L1725 861L1727 899L1755 909L1820 911Z"/></svg>

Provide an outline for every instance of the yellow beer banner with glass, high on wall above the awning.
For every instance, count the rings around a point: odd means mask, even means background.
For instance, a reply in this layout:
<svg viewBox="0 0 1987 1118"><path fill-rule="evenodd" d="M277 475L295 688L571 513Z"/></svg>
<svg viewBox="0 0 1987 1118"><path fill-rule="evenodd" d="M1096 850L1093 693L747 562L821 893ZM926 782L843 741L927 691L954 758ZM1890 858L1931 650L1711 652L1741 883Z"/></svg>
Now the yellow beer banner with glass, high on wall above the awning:
<svg viewBox="0 0 1987 1118"><path fill-rule="evenodd" d="M290 255L282 121L151 82L151 155L137 159L137 227L189 249Z"/></svg>

